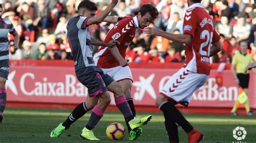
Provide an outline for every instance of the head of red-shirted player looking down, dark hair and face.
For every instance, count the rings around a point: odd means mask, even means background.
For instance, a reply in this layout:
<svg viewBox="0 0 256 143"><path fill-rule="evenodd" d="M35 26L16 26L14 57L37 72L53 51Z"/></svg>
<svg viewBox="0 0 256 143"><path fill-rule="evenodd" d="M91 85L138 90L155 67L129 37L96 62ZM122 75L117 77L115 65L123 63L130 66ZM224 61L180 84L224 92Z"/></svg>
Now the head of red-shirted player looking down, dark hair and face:
<svg viewBox="0 0 256 143"><path fill-rule="evenodd" d="M138 12L138 22L140 28L145 28L153 23L156 18L158 18L159 12L152 4L143 4L139 8Z"/></svg>

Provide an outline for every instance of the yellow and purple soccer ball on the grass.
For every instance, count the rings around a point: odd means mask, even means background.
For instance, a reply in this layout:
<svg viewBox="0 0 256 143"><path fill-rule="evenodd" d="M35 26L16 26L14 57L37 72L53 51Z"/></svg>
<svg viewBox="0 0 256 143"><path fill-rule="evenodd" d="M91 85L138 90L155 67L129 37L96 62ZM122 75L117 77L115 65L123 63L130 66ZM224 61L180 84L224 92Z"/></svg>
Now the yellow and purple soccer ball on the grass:
<svg viewBox="0 0 256 143"><path fill-rule="evenodd" d="M120 123L111 123L106 128L106 135L110 140L122 140L125 135L125 127Z"/></svg>

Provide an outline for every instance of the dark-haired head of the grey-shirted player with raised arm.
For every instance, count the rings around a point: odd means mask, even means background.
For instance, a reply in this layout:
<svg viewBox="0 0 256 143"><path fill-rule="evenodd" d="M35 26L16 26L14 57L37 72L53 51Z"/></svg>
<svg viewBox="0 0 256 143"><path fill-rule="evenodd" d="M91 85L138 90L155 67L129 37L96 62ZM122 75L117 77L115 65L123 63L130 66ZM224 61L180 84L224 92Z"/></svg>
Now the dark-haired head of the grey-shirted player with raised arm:
<svg viewBox="0 0 256 143"><path fill-rule="evenodd" d="M98 5L91 1L85 0L79 3L77 10L79 15L85 17L93 17L98 10Z"/></svg>

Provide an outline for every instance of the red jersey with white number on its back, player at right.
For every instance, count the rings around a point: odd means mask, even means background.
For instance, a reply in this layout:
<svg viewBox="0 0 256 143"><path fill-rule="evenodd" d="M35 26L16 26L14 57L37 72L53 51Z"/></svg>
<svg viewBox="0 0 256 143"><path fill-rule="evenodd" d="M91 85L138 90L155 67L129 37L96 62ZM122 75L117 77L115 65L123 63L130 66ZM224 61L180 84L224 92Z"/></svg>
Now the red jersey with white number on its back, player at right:
<svg viewBox="0 0 256 143"><path fill-rule="evenodd" d="M187 70L200 74L210 74L210 51L212 44L218 42L220 37L215 31L213 19L205 11L201 3L196 3L187 8L183 33L190 34L192 40L186 45Z"/></svg>

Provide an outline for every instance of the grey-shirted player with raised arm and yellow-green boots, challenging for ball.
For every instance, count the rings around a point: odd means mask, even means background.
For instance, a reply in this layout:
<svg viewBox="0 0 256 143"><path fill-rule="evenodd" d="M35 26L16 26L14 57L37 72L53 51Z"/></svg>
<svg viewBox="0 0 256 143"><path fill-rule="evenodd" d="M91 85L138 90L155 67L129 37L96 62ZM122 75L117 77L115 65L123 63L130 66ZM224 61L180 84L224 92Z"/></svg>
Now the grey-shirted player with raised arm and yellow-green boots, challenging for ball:
<svg viewBox="0 0 256 143"><path fill-rule="evenodd" d="M52 130L51 138L59 137L72 123L93 108L91 117L80 133L80 137L88 140L99 140L95 137L92 129L103 117L104 111L110 103L110 96L107 90L114 93L116 105L123 113L125 120L129 122L132 130L137 130L138 127L147 124L152 117L134 118L129 104L123 96L122 87L109 75L104 74L102 69L93 62L91 45L111 47L117 41L105 43L91 38L88 26L102 22L117 3L118 0L112 0L111 4L102 13L94 17L97 11L97 4L91 1L82 1L78 5L79 16L69 20L67 25L68 41L74 57L76 76L87 87L89 97L86 102L79 104L72 111L64 123L60 123Z"/></svg>

